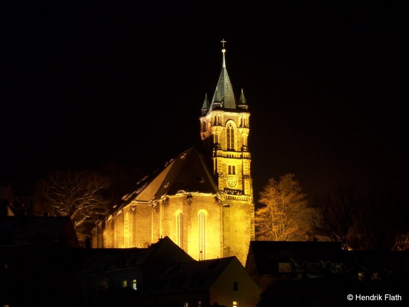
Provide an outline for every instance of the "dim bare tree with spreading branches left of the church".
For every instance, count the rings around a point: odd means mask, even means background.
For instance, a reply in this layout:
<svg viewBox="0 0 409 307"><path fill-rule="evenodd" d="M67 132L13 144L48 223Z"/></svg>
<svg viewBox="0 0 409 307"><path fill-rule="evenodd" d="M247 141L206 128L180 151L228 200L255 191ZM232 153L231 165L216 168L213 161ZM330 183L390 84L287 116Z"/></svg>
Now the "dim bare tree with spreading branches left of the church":
<svg viewBox="0 0 409 307"><path fill-rule="evenodd" d="M82 242L94 223L108 211L104 192L108 180L88 171L56 171L37 185L37 214L70 216L78 239Z"/></svg>

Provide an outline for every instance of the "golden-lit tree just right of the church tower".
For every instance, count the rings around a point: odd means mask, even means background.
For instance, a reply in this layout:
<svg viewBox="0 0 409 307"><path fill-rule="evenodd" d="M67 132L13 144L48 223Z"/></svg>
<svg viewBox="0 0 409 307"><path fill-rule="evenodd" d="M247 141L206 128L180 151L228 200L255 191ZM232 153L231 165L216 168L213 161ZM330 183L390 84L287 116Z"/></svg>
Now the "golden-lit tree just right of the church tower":
<svg viewBox="0 0 409 307"><path fill-rule="evenodd" d="M257 238L288 241L299 235L305 197L294 174L285 174L279 182L271 178L260 192L259 203L264 206L255 214Z"/></svg>

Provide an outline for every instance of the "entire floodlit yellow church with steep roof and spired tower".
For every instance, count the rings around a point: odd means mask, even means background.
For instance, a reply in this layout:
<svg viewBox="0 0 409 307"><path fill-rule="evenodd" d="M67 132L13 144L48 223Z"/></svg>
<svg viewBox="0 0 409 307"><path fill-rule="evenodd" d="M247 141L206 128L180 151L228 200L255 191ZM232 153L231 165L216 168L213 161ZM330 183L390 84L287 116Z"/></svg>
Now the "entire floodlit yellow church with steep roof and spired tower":
<svg viewBox="0 0 409 307"><path fill-rule="evenodd" d="M245 264L254 240L248 105L236 100L222 68L201 108L202 148L189 148L142 179L123 203L96 224L93 248L145 248L168 236L197 260L236 256Z"/></svg>

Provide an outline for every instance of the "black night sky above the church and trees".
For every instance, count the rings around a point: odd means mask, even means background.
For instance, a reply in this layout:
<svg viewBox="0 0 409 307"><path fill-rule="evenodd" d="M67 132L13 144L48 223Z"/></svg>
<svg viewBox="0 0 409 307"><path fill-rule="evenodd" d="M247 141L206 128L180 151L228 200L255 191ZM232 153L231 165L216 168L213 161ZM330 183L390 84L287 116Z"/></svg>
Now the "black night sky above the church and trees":
<svg viewBox="0 0 409 307"><path fill-rule="evenodd" d="M224 38L236 99L243 88L251 113L256 199L285 173L309 196L344 183L404 194L409 12L386 3L200 14L117 2L3 5L0 180L118 165L137 181L200 145Z"/></svg>

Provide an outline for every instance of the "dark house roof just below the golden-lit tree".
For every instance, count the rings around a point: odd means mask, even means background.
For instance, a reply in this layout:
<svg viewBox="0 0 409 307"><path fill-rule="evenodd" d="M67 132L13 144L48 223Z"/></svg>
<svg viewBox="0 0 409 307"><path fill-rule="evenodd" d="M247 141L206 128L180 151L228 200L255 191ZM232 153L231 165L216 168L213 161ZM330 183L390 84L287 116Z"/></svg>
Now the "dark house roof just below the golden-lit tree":
<svg viewBox="0 0 409 307"><path fill-rule="evenodd" d="M247 261L253 256L258 274L271 275L277 273L278 262L302 264L341 250L339 242L251 241Z"/></svg>

